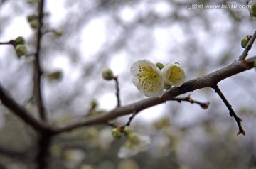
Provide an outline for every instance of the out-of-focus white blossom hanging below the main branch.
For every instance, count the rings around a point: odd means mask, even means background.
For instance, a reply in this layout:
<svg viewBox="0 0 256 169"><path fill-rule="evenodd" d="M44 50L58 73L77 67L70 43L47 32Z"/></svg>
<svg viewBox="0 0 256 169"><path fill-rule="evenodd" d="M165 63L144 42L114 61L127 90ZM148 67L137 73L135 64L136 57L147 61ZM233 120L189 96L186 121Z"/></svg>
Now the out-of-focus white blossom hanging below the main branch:
<svg viewBox="0 0 256 169"><path fill-rule="evenodd" d="M117 156L119 158L129 158L139 152L146 151L150 143L149 136L137 135L136 141L127 140L126 143L120 148Z"/></svg>

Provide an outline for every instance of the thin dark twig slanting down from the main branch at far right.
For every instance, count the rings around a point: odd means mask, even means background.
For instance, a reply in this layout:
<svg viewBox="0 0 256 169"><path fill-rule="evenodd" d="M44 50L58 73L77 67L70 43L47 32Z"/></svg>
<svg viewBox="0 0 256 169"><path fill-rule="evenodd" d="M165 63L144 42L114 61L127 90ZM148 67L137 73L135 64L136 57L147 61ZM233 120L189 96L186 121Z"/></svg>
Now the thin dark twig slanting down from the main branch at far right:
<svg viewBox="0 0 256 169"><path fill-rule="evenodd" d="M234 117L235 121L238 124L238 135L242 134L245 136L245 131L242 129L242 119L240 119L236 114L235 111L232 109L231 104L228 102L228 100L225 98L224 94L220 91L220 88L218 87L218 85L214 85L213 86L214 91L220 96L220 98L223 100L224 104L226 105L226 107L228 108L228 110L230 111L230 116Z"/></svg>

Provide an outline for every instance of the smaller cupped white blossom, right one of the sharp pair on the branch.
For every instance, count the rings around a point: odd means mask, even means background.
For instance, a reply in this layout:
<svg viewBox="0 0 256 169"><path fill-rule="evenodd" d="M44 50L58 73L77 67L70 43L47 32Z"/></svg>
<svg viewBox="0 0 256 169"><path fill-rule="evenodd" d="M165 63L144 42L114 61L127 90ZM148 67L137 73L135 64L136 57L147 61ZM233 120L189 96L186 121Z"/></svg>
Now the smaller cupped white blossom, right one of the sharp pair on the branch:
<svg viewBox="0 0 256 169"><path fill-rule="evenodd" d="M161 72L164 75L166 84L180 87L185 82L186 75L183 67L181 67L181 63L178 61L165 65Z"/></svg>

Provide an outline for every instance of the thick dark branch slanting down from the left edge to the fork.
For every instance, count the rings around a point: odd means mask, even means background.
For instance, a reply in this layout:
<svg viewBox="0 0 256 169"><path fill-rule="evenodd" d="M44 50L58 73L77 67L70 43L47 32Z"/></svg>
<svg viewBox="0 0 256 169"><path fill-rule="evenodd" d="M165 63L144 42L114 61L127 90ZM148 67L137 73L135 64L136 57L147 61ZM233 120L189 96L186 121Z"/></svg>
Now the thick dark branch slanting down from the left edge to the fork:
<svg viewBox="0 0 256 169"><path fill-rule="evenodd" d="M29 126L31 126L36 131L46 131L48 130L48 126L41 123L41 121L37 121L31 116L26 109L21 107L18 103L14 101L14 99L7 94L5 89L1 87L0 84L0 99L1 103L4 104L7 108L9 108L14 114L20 117L23 121L26 122Z"/></svg>

